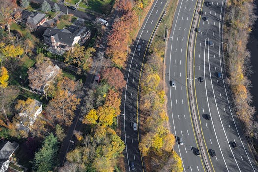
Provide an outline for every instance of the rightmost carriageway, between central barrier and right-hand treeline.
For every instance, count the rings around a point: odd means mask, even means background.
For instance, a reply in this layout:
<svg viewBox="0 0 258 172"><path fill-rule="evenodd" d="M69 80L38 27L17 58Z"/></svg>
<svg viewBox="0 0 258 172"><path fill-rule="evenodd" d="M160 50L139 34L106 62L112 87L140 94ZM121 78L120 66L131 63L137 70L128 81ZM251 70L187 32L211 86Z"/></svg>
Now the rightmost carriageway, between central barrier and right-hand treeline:
<svg viewBox="0 0 258 172"><path fill-rule="evenodd" d="M196 109L202 136L213 171L257 172L254 158L245 141L241 125L231 109L232 97L226 85L222 58L222 15L224 0L211 0L203 5L199 16L200 32L196 32L194 44L194 76L203 77L200 83L194 79ZM208 17L208 21L204 19ZM212 41L212 45L209 45ZM221 73L221 78L218 77ZM211 120L205 119L211 115ZM237 148L232 147L232 142ZM210 156L210 149L216 156Z"/></svg>

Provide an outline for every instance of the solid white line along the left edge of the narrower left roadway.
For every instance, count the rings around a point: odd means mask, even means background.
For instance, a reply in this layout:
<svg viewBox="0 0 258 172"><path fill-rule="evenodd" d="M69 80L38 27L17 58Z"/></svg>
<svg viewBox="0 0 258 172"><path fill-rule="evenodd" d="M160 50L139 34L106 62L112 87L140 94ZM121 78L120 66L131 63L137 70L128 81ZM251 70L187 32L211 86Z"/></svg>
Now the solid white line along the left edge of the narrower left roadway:
<svg viewBox="0 0 258 172"><path fill-rule="evenodd" d="M132 56L132 59L131 59L131 63L130 63L130 67L129 67L129 70L128 70L128 75L127 75L127 81L126 81L126 87L125 87L125 96L124 96L124 140L125 140L125 149L126 149L126 156L127 156L127 163L128 163L128 168L129 168L129 172L131 172L131 168L130 168L130 164L129 164L129 158L128 158L128 151L127 151L127 144L126 144L126 130L125 130L125 104L126 104L126 93L127 93L127 85L128 85L128 80L129 80L129 75L130 75L130 71L131 71L131 66L132 66L132 62L133 62L133 59L134 59L134 54L135 54L135 51L136 51L136 48L137 48L137 45L139 43L139 40L143 34L143 30L147 24L147 21L149 20L149 17L151 16L151 13L153 11L153 9L155 8L156 4L157 4L158 1L156 1L156 3L154 4L152 10L150 11L149 13L149 16L145 22L145 25L143 26L143 29L142 29L142 32L138 38L138 41L137 41L137 44L135 46L135 49L134 49L134 53L133 53L133 56ZM138 149L139 150L139 149ZM140 152L140 150L139 150Z"/></svg>

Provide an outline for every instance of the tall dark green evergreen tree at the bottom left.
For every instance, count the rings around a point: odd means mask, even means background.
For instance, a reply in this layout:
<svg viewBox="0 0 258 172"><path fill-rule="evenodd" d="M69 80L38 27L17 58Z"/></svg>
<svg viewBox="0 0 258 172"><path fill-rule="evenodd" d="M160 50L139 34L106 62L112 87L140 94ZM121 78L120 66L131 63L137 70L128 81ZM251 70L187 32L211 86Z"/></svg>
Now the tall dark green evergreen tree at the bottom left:
<svg viewBox="0 0 258 172"><path fill-rule="evenodd" d="M43 142L42 148L35 153L33 169L37 172L52 171L57 165L58 153L57 137L50 133Z"/></svg>

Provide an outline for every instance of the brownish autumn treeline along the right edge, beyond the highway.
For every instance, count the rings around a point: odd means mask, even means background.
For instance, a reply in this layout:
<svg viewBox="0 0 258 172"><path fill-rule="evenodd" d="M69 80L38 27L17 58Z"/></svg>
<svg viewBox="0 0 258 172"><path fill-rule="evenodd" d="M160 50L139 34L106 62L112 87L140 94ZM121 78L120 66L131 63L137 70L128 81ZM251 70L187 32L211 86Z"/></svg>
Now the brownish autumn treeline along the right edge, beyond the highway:
<svg viewBox="0 0 258 172"><path fill-rule="evenodd" d="M254 24L253 0L229 0L226 11L224 35L228 43L225 57L228 69L227 82L233 93L234 109L244 124L245 134L258 150L258 123L254 119L255 108L250 94L250 53L247 50L249 33ZM225 46L226 48L226 46Z"/></svg>

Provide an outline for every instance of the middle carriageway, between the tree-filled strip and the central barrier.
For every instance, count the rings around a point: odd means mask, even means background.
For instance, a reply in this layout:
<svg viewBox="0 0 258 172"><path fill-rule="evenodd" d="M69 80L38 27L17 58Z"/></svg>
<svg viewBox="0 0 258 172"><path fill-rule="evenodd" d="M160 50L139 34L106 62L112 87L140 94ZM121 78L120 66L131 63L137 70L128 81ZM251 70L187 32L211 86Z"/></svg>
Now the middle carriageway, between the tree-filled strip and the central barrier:
<svg viewBox="0 0 258 172"><path fill-rule="evenodd" d="M186 55L193 21L196 0L179 0L175 12L172 29L168 36L168 45L165 58L165 82L168 103L167 112L171 133L183 139L184 145L175 145L175 150L180 155L184 172L206 172L201 156L194 154L199 149L190 115L187 87L186 87ZM175 87L170 85L175 82Z"/></svg>

